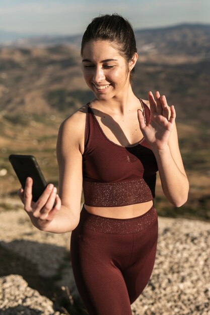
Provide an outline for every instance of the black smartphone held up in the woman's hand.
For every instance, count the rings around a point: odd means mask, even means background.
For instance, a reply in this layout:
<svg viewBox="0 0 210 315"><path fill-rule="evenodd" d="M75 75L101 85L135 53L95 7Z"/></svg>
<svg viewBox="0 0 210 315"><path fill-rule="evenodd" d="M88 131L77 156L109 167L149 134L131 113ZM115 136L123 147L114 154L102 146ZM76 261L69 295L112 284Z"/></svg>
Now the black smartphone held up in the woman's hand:
<svg viewBox="0 0 210 315"><path fill-rule="evenodd" d="M23 189L25 188L27 177L31 177L33 179L32 199L34 202L36 202L46 188L47 183L39 168L35 156L25 154L11 154L9 156L9 160Z"/></svg>

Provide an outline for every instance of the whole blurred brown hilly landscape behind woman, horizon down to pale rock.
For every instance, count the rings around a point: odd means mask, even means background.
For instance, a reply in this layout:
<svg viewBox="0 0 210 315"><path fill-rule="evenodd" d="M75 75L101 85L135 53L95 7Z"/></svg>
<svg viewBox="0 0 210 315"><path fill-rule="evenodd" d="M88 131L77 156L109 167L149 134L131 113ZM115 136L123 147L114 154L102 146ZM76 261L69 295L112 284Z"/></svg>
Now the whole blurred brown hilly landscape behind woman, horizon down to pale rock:
<svg viewBox="0 0 210 315"><path fill-rule="evenodd" d="M134 93L147 99L148 91L160 91L169 105L175 105L191 183L189 201L177 212L163 201L159 181L158 208L163 215L195 213L209 219L210 25L182 24L139 30L135 35L139 58ZM8 177L0 174L0 195L17 186L8 162L13 152L40 157L48 178L56 183L59 124L94 97L82 75L81 38L42 36L0 46L1 174L8 170Z"/></svg>

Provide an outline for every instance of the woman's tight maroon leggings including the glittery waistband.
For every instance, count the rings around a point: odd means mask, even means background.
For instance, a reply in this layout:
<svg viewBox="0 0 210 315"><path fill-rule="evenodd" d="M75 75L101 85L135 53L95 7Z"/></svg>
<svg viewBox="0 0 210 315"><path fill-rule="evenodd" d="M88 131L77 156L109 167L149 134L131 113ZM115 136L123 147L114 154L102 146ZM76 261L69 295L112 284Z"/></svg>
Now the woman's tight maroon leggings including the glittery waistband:
<svg viewBox="0 0 210 315"><path fill-rule="evenodd" d="M130 219L88 213L72 232L75 281L89 315L131 315L130 304L152 274L158 239L158 216L152 207Z"/></svg>

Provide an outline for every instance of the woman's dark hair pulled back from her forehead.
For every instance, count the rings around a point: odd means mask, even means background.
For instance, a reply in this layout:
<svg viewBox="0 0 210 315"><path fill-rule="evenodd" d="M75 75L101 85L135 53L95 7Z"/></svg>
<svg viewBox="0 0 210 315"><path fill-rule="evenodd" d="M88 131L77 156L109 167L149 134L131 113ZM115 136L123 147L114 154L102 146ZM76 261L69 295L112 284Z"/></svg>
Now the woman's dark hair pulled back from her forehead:
<svg viewBox="0 0 210 315"><path fill-rule="evenodd" d="M88 25L82 39L81 55L87 42L90 40L108 40L116 43L121 56L129 62L137 51L135 36L131 24L118 14L102 15L96 17ZM131 72L134 72L134 67Z"/></svg>

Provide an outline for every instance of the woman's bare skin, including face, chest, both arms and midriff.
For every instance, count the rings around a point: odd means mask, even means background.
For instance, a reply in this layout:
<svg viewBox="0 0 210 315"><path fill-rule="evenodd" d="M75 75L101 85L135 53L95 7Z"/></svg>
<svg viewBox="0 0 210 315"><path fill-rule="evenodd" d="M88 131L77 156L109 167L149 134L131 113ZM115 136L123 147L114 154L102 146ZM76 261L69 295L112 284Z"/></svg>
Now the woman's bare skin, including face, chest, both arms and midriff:
<svg viewBox="0 0 210 315"><path fill-rule="evenodd" d="M88 87L95 94L91 107L113 119L126 145L145 137L155 154L165 196L175 206L181 206L187 200L189 185L178 146L174 106L169 107L166 97L158 91L155 95L149 92L148 101L145 102L151 109L151 119L145 125L141 104L130 85L130 71L138 56L135 53L131 60L126 60L116 47L117 43L108 41L89 41L85 44L83 74ZM71 231L79 222L85 123L86 113L77 111L61 124L57 140L59 196L55 187L48 185L34 203L30 178L25 190L19 191L24 209L32 223L41 230L58 233ZM117 141L112 125L102 125L102 128L113 142ZM54 201L56 204L53 208ZM152 204L153 201L149 201L123 206L120 211L115 211L115 207L85 207L94 214L129 218L145 213Z"/></svg>

